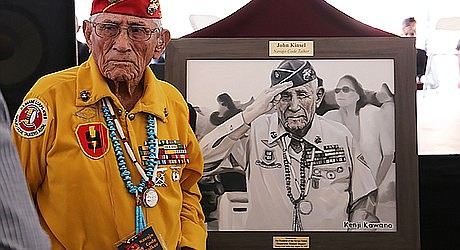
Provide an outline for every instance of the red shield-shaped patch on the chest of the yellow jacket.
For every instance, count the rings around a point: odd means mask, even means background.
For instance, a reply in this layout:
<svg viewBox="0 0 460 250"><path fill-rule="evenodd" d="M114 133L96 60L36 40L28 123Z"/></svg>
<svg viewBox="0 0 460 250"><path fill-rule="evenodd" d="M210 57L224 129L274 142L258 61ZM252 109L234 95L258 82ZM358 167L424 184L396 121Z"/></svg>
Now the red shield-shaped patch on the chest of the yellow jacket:
<svg viewBox="0 0 460 250"><path fill-rule="evenodd" d="M75 134L81 150L89 158L100 159L109 151L109 130L104 124L80 124Z"/></svg>

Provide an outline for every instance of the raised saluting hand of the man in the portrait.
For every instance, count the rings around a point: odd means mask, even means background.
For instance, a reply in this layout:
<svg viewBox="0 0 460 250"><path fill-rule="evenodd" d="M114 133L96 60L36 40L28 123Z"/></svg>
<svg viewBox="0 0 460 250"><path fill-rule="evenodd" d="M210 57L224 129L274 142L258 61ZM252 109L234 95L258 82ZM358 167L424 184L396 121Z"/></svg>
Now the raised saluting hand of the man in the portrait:
<svg viewBox="0 0 460 250"><path fill-rule="evenodd" d="M292 85L292 82L284 82L262 91L254 102L243 111L244 122L250 124L257 117L270 111L279 102L279 94Z"/></svg>

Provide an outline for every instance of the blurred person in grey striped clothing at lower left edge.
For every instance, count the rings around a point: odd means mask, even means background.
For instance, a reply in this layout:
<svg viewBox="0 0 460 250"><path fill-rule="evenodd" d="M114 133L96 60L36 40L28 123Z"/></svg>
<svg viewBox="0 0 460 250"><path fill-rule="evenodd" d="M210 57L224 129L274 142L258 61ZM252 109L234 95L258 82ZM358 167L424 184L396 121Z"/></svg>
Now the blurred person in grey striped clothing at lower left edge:
<svg viewBox="0 0 460 250"><path fill-rule="evenodd" d="M14 147L10 117L0 92L0 249L50 249L27 190Z"/></svg>

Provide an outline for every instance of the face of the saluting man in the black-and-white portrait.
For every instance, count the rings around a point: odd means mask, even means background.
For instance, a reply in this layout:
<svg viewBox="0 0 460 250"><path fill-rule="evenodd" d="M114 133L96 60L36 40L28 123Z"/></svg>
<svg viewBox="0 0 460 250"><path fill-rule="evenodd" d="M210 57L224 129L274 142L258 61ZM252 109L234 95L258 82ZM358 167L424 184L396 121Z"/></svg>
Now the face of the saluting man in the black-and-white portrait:
<svg viewBox="0 0 460 250"><path fill-rule="evenodd" d="M278 117L286 131L303 137L311 126L316 105L322 100L323 88L317 80L281 92L277 104Z"/></svg>

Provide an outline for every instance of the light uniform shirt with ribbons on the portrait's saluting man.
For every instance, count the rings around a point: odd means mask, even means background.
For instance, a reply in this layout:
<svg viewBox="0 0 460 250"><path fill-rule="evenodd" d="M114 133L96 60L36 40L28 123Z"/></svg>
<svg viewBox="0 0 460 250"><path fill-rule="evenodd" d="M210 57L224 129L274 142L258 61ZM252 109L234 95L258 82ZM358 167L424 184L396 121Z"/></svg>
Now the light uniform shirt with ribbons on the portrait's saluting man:
<svg viewBox="0 0 460 250"><path fill-rule="evenodd" d="M315 115L300 151L290 146L291 135L278 124L277 113L258 117L238 140L227 136L241 126L247 125L238 114L204 136L200 146L205 173L230 155L245 169L247 230L291 230L291 198L303 193L303 230L346 231L348 209L376 190L357 143L337 122Z"/></svg>

